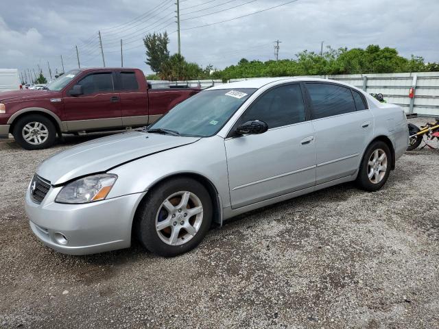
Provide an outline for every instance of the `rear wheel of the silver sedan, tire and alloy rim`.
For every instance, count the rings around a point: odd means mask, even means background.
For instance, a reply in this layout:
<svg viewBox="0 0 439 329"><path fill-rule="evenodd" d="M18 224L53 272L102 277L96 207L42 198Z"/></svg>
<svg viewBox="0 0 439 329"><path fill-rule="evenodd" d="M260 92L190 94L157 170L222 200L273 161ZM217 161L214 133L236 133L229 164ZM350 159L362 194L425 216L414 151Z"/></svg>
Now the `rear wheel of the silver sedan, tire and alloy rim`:
<svg viewBox="0 0 439 329"><path fill-rule="evenodd" d="M378 191L390 174L392 154L387 144L375 141L369 145L359 167L357 185L365 191Z"/></svg>

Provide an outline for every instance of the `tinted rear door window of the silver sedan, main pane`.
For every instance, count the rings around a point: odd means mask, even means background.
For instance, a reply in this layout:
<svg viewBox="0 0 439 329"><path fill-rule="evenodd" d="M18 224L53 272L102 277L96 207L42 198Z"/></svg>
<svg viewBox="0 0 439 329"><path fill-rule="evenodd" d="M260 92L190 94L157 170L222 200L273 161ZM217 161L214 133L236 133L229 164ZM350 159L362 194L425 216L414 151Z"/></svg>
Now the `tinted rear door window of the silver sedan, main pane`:
<svg viewBox="0 0 439 329"><path fill-rule="evenodd" d="M312 119L355 112L355 102L350 88L318 83L307 83L306 86L311 98Z"/></svg>

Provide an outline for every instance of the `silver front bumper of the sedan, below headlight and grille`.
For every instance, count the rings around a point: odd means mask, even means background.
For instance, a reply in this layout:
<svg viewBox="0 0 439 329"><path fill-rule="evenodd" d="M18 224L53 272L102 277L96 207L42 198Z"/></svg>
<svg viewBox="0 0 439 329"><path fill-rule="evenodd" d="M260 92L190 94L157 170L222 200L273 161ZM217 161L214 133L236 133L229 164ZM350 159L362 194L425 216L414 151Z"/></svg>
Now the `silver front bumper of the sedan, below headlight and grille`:
<svg viewBox="0 0 439 329"><path fill-rule="evenodd" d="M91 204L58 204L54 200L60 189L50 188L41 204L32 201L27 189L26 214L32 232L40 241L57 252L71 255L130 247L132 219L145 193ZM57 232L65 236L67 243L57 242Z"/></svg>

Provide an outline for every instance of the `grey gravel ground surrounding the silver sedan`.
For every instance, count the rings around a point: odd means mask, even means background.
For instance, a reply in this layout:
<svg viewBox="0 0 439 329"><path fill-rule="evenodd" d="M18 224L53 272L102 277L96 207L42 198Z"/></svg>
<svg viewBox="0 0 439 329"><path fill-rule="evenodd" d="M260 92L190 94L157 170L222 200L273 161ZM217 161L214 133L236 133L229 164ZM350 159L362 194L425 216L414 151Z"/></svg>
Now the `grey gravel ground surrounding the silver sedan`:
<svg viewBox="0 0 439 329"><path fill-rule="evenodd" d="M85 139L0 141L0 328L439 327L438 151L407 152L377 193L253 211L176 258L66 256L33 236L23 195L40 161Z"/></svg>

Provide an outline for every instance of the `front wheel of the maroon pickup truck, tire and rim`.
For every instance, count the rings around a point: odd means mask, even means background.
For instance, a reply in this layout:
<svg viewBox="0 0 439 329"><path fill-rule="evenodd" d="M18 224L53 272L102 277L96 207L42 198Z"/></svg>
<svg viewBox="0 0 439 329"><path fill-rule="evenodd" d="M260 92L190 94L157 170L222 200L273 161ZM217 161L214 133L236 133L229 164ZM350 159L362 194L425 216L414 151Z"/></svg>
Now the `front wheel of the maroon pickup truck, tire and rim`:
<svg viewBox="0 0 439 329"><path fill-rule="evenodd" d="M12 132L23 149L47 149L56 141L56 127L52 121L39 114L21 117Z"/></svg>

